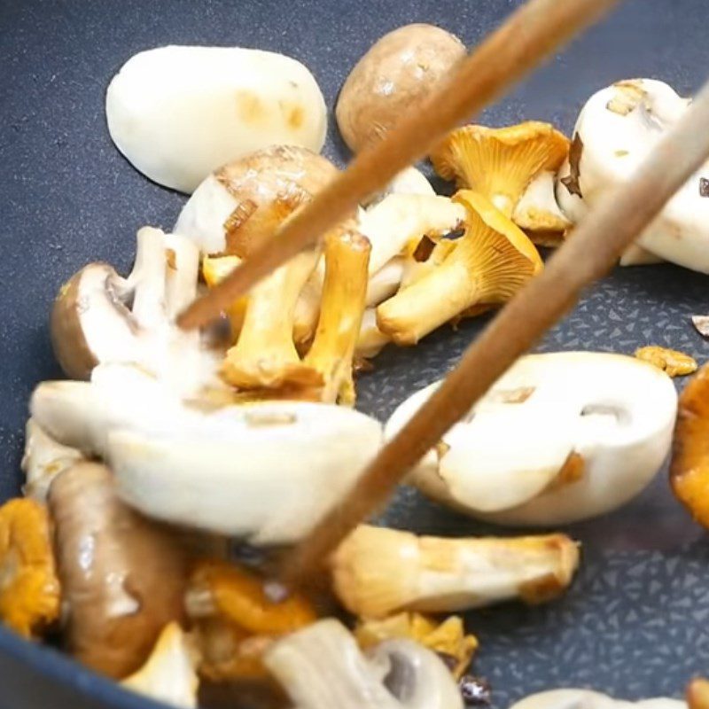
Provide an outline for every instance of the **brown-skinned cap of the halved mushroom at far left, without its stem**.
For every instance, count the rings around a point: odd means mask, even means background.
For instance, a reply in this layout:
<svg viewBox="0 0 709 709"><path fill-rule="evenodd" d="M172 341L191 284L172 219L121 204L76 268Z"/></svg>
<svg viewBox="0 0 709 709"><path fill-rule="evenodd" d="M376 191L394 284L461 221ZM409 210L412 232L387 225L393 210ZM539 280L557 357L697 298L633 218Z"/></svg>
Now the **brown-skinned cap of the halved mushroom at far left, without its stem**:
<svg viewBox="0 0 709 709"><path fill-rule="evenodd" d="M132 359L136 324L119 297L121 280L107 263L90 263L59 289L51 308L51 345L68 378L88 379L109 354Z"/></svg>

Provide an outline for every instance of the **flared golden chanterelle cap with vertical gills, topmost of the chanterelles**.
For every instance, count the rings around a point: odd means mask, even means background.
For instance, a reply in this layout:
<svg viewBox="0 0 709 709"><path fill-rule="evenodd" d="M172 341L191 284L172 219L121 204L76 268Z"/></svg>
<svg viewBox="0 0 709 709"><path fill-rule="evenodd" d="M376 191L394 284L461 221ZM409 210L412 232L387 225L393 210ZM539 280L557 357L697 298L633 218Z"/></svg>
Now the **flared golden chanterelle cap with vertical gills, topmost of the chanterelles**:
<svg viewBox="0 0 709 709"><path fill-rule="evenodd" d="M529 183L542 172L556 172L568 152L568 138L553 126L527 121L502 129L456 129L431 160L441 177L479 192L511 217Z"/></svg>

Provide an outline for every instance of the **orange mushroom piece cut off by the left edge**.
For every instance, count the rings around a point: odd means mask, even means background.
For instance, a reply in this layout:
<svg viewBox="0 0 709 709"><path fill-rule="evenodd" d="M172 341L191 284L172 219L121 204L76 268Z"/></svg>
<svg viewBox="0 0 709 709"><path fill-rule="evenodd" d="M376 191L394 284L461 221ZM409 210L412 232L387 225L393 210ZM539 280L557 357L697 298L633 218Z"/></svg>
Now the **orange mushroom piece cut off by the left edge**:
<svg viewBox="0 0 709 709"><path fill-rule="evenodd" d="M61 588L43 504L27 497L0 507L0 620L33 637L59 617Z"/></svg>

